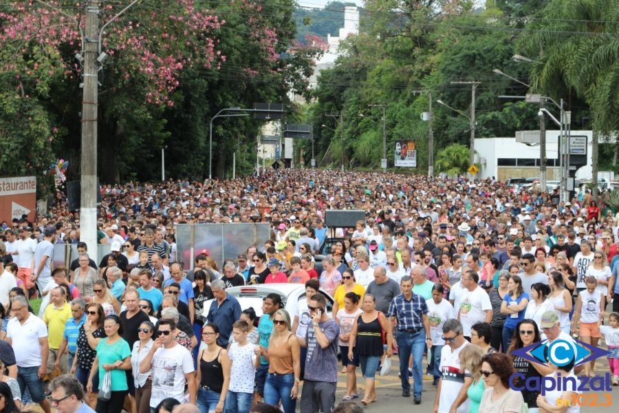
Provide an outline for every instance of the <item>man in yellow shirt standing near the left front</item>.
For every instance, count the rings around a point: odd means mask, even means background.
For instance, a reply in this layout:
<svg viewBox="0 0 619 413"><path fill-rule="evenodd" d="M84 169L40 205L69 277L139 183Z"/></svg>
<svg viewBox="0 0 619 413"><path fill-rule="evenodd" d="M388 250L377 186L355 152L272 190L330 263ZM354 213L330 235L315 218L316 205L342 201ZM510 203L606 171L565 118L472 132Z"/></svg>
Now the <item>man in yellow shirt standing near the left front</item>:
<svg viewBox="0 0 619 413"><path fill-rule="evenodd" d="M67 303L65 289L62 287L52 288L50 301L50 305L43 312L43 322L49 331L47 341L50 345L49 356L47 356L47 374L54 372L57 359L61 361L61 372L66 373L67 357L60 351L60 347L63 342L65 325L72 317L72 310Z"/></svg>

